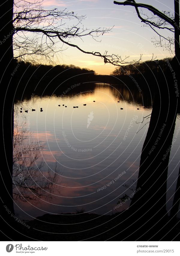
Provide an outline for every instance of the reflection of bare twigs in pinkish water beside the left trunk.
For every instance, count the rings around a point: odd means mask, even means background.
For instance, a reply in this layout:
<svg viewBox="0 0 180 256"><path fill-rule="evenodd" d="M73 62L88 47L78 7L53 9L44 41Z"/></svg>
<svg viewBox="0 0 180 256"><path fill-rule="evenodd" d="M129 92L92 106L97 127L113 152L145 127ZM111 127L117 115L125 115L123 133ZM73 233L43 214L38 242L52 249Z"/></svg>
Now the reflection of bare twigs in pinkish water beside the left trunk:
<svg viewBox="0 0 180 256"><path fill-rule="evenodd" d="M13 141L13 197L15 201L35 203L53 198L60 193L61 172L55 164L54 170L46 168L42 151L44 144L32 138L26 128L14 123ZM38 202L39 203L39 202Z"/></svg>

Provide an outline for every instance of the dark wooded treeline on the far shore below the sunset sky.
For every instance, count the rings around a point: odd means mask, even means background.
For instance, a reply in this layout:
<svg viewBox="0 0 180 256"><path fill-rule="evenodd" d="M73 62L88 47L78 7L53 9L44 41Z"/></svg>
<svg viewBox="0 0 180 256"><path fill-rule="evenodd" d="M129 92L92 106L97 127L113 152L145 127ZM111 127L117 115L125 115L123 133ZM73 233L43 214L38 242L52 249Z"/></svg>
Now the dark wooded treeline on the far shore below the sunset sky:
<svg viewBox="0 0 180 256"><path fill-rule="evenodd" d="M162 71L166 71L167 59L171 63L173 58L164 58L161 60L148 60L145 62L140 62L134 65L126 65L116 67L113 72L110 73L111 76L130 76L130 75L157 75ZM14 73L13 76L22 79L38 79L49 80L58 79L60 77L70 78L78 75L83 75L89 77L94 77L98 75L94 70L89 68L80 68L75 65L43 65L34 64L31 62L17 61L14 60L14 68L18 67L18 72Z"/></svg>

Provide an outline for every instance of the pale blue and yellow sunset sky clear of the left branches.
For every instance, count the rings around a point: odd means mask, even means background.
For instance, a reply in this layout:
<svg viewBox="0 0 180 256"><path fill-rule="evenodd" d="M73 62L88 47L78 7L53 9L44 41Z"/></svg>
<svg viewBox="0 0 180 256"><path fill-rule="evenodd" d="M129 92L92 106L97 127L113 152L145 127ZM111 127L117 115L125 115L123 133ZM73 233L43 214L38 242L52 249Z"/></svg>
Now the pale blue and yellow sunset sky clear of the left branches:
<svg viewBox="0 0 180 256"><path fill-rule="evenodd" d="M140 0L137 2L150 4L160 11L166 10L172 13L174 11L173 0ZM88 29L114 26L112 32L98 38L101 42L96 42L91 37L83 38L83 41L71 40L71 43L78 44L79 47L86 51L104 53L107 50L109 54L118 54L122 58L130 56L130 60L139 59L140 54L143 54L143 61L151 59L152 54L157 56L157 59L170 56L167 50L154 46L152 38L156 37L158 39L158 35L150 27L143 27L135 13L135 9L131 6L114 5L113 0L44 0L43 5L44 8L48 9L58 8L58 10L61 10L67 8L69 11L79 15L86 15L87 18L83 21L83 25ZM144 9L144 13L147 14L146 9ZM168 31L164 35L172 36ZM83 54L79 50L70 47L58 54L56 63L90 68L98 74L110 74L115 68L110 64L104 65L104 61L101 58Z"/></svg>

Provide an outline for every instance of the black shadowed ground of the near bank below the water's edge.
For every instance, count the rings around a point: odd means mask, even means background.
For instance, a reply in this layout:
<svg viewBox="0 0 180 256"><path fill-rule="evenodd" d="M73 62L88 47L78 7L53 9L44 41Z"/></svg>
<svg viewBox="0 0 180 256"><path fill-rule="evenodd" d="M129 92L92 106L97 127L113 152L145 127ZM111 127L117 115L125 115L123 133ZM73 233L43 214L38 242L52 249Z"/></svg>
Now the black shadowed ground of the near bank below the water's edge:
<svg viewBox="0 0 180 256"><path fill-rule="evenodd" d="M125 212L45 214L26 222L28 227L8 226L3 241L179 241L179 221L167 218L163 228L158 224L142 228L141 220L136 224Z"/></svg>

